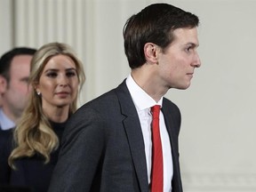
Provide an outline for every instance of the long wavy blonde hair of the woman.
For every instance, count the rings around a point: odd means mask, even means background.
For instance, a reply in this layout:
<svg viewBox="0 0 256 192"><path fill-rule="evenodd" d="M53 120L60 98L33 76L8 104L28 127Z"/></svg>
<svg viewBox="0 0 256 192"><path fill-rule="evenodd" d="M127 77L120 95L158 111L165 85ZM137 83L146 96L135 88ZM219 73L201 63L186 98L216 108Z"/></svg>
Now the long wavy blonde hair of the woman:
<svg viewBox="0 0 256 192"><path fill-rule="evenodd" d="M31 73L29 84L34 88L39 83L39 78L43 73L45 64L55 55L67 55L76 64L76 73L79 81L79 90L85 81L84 68L80 60L77 59L68 44L50 43L44 44L31 60ZM70 104L69 115L76 111L76 99ZM20 117L19 124L13 132L15 148L9 156L8 163L15 169L14 160L24 156L34 156L36 153L45 158L45 163L50 161L51 152L59 147L59 139L52 131L51 124L44 115L42 99L36 94L36 90L29 93L28 105Z"/></svg>

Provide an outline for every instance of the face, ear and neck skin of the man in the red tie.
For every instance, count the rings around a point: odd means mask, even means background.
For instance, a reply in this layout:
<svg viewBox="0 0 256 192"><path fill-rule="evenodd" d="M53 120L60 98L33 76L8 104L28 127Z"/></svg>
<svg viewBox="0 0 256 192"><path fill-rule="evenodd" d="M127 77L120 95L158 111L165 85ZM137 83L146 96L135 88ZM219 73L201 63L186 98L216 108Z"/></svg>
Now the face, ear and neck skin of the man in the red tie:
<svg viewBox="0 0 256 192"><path fill-rule="evenodd" d="M199 46L196 28L177 28L174 40L163 50L156 44L144 45L146 63L132 69L132 77L156 102L170 88L187 89L195 68L201 66L196 51Z"/></svg>

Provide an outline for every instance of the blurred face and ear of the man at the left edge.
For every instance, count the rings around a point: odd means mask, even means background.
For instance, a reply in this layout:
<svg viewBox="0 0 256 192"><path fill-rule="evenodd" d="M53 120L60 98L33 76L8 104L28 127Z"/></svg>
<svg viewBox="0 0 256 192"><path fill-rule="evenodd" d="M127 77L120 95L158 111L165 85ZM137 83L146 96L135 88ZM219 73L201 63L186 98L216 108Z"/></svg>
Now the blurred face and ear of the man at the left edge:
<svg viewBox="0 0 256 192"><path fill-rule="evenodd" d="M14 123L17 123L28 101L31 60L31 55L17 55L12 59L9 84L3 76L0 76L2 108L5 116Z"/></svg>

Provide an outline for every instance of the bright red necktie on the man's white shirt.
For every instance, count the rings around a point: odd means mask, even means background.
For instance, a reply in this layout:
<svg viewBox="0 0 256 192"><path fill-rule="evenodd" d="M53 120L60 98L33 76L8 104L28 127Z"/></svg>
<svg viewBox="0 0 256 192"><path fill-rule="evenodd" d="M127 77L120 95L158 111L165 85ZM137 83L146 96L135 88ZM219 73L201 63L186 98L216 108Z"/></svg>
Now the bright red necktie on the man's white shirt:
<svg viewBox="0 0 256 192"><path fill-rule="evenodd" d="M151 192L163 192L163 152L159 129L160 106L151 108L152 120L152 168L151 168Z"/></svg>

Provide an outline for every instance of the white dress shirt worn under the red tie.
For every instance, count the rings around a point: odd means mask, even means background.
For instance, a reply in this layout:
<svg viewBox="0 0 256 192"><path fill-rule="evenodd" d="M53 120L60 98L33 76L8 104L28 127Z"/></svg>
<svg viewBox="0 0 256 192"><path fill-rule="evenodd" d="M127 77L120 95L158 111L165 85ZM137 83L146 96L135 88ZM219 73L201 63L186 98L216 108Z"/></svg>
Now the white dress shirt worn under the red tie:
<svg viewBox="0 0 256 192"><path fill-rule="evenodd" d="M132 95L132 100L137 109L138 116L140 118L140 125L142 129L144 144L145 144L145 155L148 168L148 184L150 183L151 174L151 161L152 161L152 139L151 139L151 122L152 115L150 108L155 105L162 107L163 97L157 103L153 100L147 92L143 91L138 84L133 80L131 74L126 79L126 84L129 92ZM163 148L163 160L164 160L164 192L172 191L172 175L173 175L173 164L172 164L172 150L166 125L164 123L164 115L160 111L160 135Z"/></svg>

